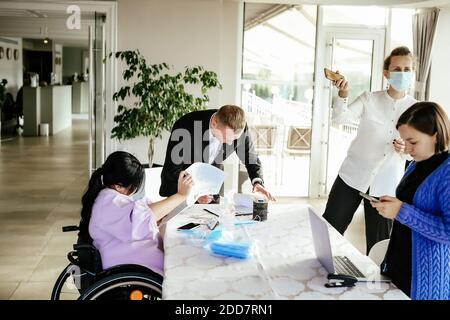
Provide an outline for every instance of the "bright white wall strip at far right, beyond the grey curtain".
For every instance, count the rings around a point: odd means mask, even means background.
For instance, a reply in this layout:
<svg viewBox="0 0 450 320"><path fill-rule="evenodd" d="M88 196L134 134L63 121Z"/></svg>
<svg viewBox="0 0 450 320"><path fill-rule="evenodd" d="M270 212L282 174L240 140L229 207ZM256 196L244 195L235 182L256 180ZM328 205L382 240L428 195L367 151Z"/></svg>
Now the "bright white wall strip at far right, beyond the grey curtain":
<svg viewBox="0 0 450 320"><path fill-rule="evenodd" d="M441 9L433 45L430 100L442 105L450 117L450 8Z"/></svg>

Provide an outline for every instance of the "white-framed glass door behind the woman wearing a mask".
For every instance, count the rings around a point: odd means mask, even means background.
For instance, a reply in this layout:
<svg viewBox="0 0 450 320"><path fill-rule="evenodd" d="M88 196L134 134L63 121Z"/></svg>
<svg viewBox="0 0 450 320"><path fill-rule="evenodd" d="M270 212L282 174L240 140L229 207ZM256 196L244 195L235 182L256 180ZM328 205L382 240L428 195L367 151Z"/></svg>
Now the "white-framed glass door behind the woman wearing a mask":
<svg viewBox="0 0 450 320"><path fill-rule="evenodd" d="M350 84L349 104L364 91L381 90L384 30L367 32L356 28L328 28L325 67L345 75ZM321 195L328 195L347 150L356 136L358 122L337 124L332 121L332 104L337 89L328 82L326 163L323 164Z"/></svg>

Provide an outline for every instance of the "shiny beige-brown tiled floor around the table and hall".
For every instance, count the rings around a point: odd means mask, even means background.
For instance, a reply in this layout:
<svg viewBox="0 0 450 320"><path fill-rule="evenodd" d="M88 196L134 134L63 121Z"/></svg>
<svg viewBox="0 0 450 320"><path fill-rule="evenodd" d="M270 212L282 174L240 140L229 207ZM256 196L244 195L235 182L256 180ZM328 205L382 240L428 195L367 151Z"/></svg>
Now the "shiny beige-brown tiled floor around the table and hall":
<svg viewBox="0 0 450 320"><path fill-rule="evenodd" d="M52 137L14 138L0 145L0 299L49 299L67 265L81 195L88 181L87 122ZM292 202L278 199L278 202ZM320 212L325 200L300 199ZM365 251L361 210L346 233Z"/></svg>

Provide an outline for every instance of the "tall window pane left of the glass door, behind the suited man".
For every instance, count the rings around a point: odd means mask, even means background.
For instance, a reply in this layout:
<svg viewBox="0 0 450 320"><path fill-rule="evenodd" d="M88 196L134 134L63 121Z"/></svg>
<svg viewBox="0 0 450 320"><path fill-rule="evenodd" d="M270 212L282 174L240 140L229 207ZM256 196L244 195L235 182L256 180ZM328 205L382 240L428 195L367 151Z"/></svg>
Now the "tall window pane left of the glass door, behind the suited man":
<svg viewBox="0 0 450 320"><path fill-rule="evenodd" d="M245 4L242 106L276 196L308 196L315 37L316 6Z"/></svg>

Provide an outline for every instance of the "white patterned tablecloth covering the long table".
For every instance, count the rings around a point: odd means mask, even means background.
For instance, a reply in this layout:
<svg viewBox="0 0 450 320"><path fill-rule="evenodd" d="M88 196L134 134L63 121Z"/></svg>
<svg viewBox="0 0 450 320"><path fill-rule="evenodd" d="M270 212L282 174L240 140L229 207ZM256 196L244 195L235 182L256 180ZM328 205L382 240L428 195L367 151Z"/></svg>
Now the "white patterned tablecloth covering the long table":
<svg viewBox="0 0 450 320"><path fill-rule="evenodd" d="M204 241L176 230L211 218L203 207L194 205L167 224L163 299L408 299L386 283L326 288L327 272L315 256L308 206L270 204L267 221L236 227L238 238L255 244L255 255L247 260L213 255ZM334 255L378 268L331 227L330 237Z"/></svg>

